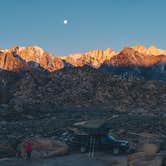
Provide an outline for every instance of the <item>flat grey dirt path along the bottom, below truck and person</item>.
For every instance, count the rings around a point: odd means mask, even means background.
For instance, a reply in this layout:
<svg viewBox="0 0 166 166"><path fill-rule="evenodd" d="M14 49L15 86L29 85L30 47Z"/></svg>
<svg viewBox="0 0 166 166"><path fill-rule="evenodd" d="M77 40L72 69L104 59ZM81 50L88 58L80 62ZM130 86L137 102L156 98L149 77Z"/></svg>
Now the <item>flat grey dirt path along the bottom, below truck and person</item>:
<svg viewBox="0 0 166 166"><path fill-rule="evenodd" d="M87 154L71 154L43 160L25 161L17 158L0 160L2 166L120 166L121 163L125 166L125 157L117 158L103 154L97 154L94 159L89 159Z"/></svg>

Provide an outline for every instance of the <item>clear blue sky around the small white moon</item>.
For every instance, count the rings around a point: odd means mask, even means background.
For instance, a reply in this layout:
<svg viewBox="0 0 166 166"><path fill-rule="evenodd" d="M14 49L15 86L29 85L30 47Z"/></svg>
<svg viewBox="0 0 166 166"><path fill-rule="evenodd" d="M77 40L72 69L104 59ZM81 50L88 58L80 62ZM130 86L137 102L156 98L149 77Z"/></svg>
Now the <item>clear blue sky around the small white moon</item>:
<svg viewBox="0 0 166 166"><path fill-rule="evenodd" d="M0 0L0 48L67 55L137 44L166 49L165 0Z"/></svg>

